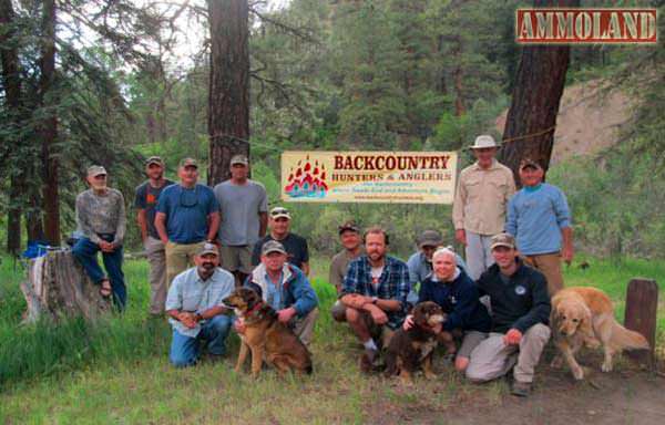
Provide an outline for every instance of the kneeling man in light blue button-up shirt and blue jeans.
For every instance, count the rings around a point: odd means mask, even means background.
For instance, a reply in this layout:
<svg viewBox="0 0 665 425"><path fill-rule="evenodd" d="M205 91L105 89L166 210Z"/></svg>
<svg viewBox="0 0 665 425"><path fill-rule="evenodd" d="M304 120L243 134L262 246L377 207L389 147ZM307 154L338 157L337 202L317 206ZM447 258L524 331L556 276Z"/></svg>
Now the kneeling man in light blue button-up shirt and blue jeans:
<svg viewBox="0 0 665 425"><path fill-rule="evenodd" d="M218 267L217 247L204 243L194 262L196 267L173 279L166 298L166 314L173 326L170 357L177 367L198 361L202 341L212 359L223 355L232 323L231 311L222 305L222 300L233 292L235 280Z"/></svg>

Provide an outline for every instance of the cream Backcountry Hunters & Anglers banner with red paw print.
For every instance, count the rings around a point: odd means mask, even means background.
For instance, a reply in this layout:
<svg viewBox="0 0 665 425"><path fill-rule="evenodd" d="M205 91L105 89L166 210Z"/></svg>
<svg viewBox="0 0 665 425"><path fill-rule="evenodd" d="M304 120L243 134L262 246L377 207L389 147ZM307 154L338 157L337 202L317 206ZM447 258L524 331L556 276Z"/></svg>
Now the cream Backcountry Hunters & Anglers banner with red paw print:
<svg viewBox="0 0 665 425"><path fill-rule="evenodd" d="M456 152L284 152L282 199L452 204Z"/></svg>

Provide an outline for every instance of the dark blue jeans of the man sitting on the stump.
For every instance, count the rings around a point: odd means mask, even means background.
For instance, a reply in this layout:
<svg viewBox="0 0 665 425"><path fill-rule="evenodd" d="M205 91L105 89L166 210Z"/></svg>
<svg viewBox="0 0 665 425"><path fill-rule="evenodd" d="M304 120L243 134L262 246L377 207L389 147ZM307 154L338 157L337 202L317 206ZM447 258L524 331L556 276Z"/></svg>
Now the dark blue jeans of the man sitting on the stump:
<svg viewBox="0 0 665 425"><path fill-rule="evenodd" d="M108 242L113 241L113 235L100 235L100 238ZM99 284L103 279L106 278L102 268L98 262L96 253L100 251L100 246L93 243L88 238L81 238L76 240L72 248L74 258L83 266L85 273L90 279ZM113 302L119 310L124 310L127 300L127 290L124 284L124 273L122 272L122 247L115 248L113 252L102 252L102 260L104 261L104 268L109 272L109 280L111 281L111 289L113 292Z"/></svg>

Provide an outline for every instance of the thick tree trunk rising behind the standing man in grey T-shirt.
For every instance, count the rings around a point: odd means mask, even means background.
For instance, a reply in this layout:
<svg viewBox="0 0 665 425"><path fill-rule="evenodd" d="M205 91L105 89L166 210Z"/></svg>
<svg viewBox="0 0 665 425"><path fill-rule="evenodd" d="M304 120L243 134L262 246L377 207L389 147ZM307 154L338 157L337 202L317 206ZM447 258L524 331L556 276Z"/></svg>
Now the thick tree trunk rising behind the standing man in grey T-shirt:
<svg viewBox="0 0 665 425"><path fill-rule="evenodd" d="M208 184L231 178L231 157L249 156L249 46L247 0L208 0L211 77Z"/></svg>

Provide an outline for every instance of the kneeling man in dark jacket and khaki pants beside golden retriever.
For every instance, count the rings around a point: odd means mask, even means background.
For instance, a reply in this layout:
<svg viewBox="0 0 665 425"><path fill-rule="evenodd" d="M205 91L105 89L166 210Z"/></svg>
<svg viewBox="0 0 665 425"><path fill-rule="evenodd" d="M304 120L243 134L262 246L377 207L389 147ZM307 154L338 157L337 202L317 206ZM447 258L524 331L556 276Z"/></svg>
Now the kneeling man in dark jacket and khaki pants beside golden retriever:
<svg viewBox="0 0 665 425"><path fill-rule="evenodd" d="M514 366L512 394L526 396L551 334L548 282L543 273L518 258L511 235L495 235L490 249L495 263L477 283L481 296L490 296L493 325L488 338L471 351L467 377L487 382Z"/></svg>

